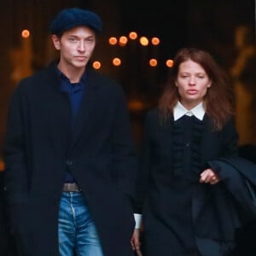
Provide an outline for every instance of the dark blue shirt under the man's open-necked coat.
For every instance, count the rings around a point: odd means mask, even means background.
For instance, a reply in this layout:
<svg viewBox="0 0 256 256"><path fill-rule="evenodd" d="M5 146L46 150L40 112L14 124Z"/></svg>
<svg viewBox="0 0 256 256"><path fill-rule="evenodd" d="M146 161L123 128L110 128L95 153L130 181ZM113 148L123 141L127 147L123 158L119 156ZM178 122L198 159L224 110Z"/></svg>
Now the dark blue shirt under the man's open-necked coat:
<svg viewBox="0 0 256 256"><path fill-rule="evenodd" d="M73 125L77 114L79 113L79 108L82 101L83 91L85 87L85 73L83 74L82 78L80 79L79 83L71 83L70 80L58 69L58 75L61 81L60 89L61 91L67 93L69 97L70 105L72 108L72 119L71 125L73 129ZM74 183L75 179L71 172L67 172L65 177L65 183Z"/></svg>

